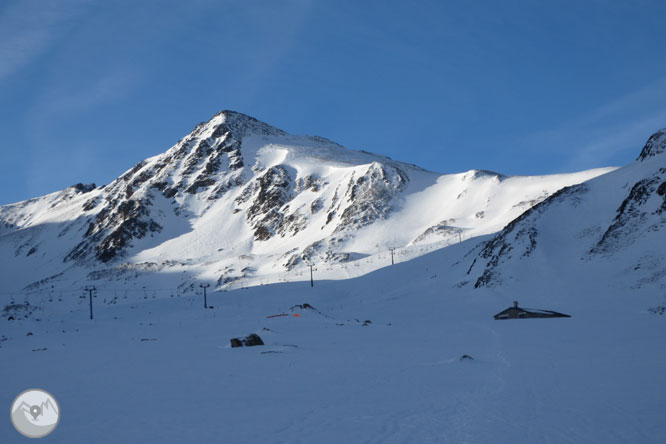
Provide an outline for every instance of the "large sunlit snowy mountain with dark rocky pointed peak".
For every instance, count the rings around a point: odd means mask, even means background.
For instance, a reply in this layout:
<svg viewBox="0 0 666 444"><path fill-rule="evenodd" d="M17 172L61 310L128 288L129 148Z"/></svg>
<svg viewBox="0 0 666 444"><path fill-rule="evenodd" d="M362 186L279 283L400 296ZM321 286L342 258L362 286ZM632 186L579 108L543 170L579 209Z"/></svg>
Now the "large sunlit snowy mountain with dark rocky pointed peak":
<svg viewBox="0 0 666 444"><path fill-rule="evenodd" d="M12 291L140 287L155 272L235 288L305 279L308 263L358 276L390 264L391 247L407 260L496 232L611 170L439 175L223 111L104 187L0 207L0 273Z"/></svg>

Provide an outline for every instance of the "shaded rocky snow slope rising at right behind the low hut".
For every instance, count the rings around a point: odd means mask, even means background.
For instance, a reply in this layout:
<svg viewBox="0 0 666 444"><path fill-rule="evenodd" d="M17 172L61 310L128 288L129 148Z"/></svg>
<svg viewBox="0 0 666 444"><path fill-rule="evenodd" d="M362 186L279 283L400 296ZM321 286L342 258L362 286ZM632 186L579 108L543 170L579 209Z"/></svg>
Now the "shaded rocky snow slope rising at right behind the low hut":
<svg viewBox="0 0 666 444"><path fill-rule="evenodd" d="M461 263L475 287L611 282L666 290L666 130L623 168L534 206ZM506 286L506 285L505 285Z"/></svg>

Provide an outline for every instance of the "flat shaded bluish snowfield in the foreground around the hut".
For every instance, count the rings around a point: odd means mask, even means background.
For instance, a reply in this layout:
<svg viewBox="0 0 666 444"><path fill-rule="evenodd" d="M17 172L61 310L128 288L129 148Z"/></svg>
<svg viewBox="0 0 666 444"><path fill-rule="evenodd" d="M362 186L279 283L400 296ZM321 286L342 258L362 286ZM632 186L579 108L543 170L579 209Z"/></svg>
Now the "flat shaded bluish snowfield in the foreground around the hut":
<svg viewBox="0 0 666 444"><path fill-rule="evenodd" d="M216 292L208 310L201 295L130 293L94 321L85 299L0 319L0 401L53 393L53 443L664 442L666 318L646 310L663 296L591 281L458 288L450 270L468 248L314 288ZM572 317L493 320L515 299ZM229 347L253 332L264 346ZM5 420L0 441L23 438Z"/></svg>

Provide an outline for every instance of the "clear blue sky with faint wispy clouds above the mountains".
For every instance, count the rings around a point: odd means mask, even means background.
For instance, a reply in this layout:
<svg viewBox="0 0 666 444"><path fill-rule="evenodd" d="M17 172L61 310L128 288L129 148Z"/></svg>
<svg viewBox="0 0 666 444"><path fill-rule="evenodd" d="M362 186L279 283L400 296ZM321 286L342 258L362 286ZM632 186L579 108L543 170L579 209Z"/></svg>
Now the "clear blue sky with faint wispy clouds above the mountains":
<svg viewBox="0 0 666 444"><path fill-rule="evenodd" d="M663 1L0 2L0 204L233 109L442 173L623 165L666 127Z"/></svg>

